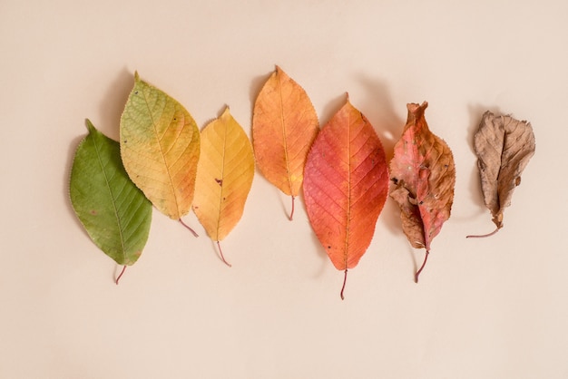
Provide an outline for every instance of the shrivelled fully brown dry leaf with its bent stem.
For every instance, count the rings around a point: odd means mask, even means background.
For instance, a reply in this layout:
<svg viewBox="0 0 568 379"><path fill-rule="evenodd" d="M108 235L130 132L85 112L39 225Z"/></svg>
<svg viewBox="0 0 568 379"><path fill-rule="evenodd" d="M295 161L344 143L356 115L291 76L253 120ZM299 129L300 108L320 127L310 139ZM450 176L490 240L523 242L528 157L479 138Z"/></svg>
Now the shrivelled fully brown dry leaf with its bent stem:
<svg viewBox="0 0 568 379"><path fill-rule="evenodd" d="M518 121L511 116L495 116L485 112L474 137L477 167L485 207L491 210L495 234L503 228L504 209L511 205L521 174L534 155L534 133L530 122Z"/></svg>

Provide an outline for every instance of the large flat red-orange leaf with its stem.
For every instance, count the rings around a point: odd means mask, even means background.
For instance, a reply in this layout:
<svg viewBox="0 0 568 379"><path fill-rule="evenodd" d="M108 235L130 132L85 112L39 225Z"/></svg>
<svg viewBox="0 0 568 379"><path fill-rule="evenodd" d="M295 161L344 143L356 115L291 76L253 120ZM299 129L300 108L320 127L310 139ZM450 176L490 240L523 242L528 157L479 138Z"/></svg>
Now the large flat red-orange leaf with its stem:
<svg viewBox="0 0 568 379"><path fill-rule="evenodd" d="M304 180L309 222L346 277L371 243L387 191L381 141L367 118L347 101L314 141Z"/></svg>

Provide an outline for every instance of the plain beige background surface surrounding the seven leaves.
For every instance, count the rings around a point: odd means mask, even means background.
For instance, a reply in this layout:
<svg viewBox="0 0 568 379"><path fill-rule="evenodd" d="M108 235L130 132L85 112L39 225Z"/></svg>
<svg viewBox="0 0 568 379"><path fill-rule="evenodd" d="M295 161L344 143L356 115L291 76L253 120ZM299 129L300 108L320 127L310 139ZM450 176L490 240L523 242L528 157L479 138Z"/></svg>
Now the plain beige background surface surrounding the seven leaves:
<svg viewBox="0 0 568 379"><path fill-rule="evenodd" d="M0 377L568 378L565 247L568 3L558 1L0 2ZM142 258L99 251L67 198L84 119L118 137L132 73L200 128L225 104L250 134L279 64L322 124L349 93L392 156L406 102L455 154L452 218L410 248L395 204L350 271L305 209L257 172L221 264L154 211ZM472 151L490 109L532 121L534 159L494 238Z"/></svg>

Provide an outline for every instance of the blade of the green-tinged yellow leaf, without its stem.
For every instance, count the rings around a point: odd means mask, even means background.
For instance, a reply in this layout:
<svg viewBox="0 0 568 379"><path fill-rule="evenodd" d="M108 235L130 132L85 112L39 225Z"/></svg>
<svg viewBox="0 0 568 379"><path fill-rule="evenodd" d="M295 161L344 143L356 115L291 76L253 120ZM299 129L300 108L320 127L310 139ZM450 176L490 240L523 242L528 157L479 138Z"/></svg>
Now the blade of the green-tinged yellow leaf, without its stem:
<svg viewBox="0 0 568 379"><path fill-rule="evenodd" d="M180 102L140 79L121 118L121 155L131 180L171 219L191 209L200 133Z"/></svg>

